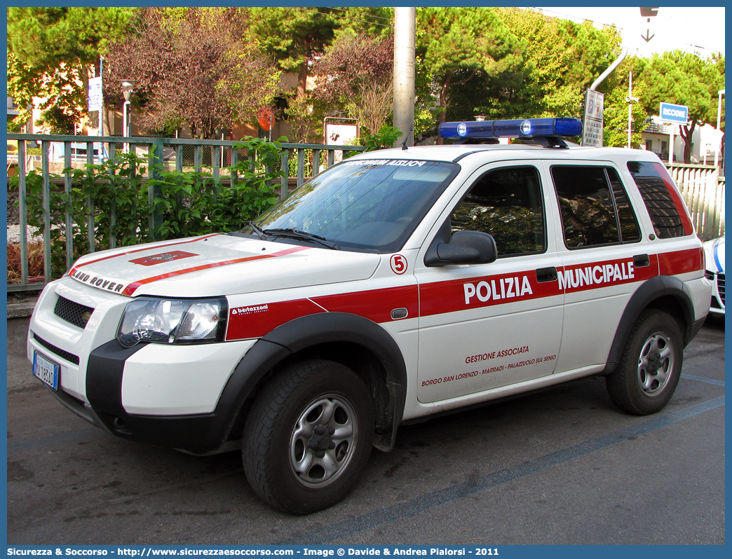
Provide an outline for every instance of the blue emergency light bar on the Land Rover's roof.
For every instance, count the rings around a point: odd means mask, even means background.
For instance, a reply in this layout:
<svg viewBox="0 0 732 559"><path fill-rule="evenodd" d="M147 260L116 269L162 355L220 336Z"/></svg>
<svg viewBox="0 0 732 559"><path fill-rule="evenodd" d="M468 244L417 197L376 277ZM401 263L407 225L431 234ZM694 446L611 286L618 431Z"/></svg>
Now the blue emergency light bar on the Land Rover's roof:
<svg viewBox="0 0 732 559"><path fill-rule="evenodd" d="M579 136L579 119L516 119L444 122L440 124L442 138L532 138L534 136Z"/></svg>

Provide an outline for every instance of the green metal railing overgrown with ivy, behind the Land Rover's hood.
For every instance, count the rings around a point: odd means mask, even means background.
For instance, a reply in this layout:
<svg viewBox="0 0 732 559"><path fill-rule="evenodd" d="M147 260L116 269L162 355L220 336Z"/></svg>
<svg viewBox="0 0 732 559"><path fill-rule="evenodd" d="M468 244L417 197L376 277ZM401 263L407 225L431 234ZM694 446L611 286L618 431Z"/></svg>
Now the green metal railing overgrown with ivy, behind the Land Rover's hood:
<svg viewBox="0 0 732 559"><path fill-rule="evenodd" d="M83 168L86 164L101 162L102 159L115 157L120 150L134 150L138 154L146 154L149 159L147 174L144 179L156 178L157 169L195 170L211 173L214 179L223 183L236 181L236 170L230 169L228 177L223 170L233 168L237 162L246 157L253 161L255 154L246 149L239 149L239 144L231 140L195 140L190 138L121 138L111 136L68 136L68 135L37 135L37 134L8 134L8 140L18 140L18 155L8 156L8 181L12 166L17 166L18 174L18 211L20 222L20 283L8 283L8 291L38 290L41 289L51 275L51 188L63 188L70 194L73 184L69 169ZM28 143L40 143L40 156L29 155ZM239 144L240 145L240 144ZM61 149L62 148L62 149ZM309 143L282 143L281 170L283 179L280 181L280 197L284 197L293 187L299 187L310 176L314 176L322 169L333 165L339 154L351 151L365 151L362 146L333 146ZM79 152L82 152L81 154ZM345 155L345 154L344 154ZM42 206L43 206L43 267L44 276L31 282L29 278L28 253L28 206L26 200L26 175L29 166L40 167L42 176ZM53 167L57 170L54 171ZM65 172L64 172L65 170ZM149 175L152 173L152 176ZM62 176L54 179L53 175ZM152 206L154 199L160 198L160 189L149 190L149 202ZM94 200L89 200L88 220L89 252L94 252ZM65 230L72 230L75 217L70 212L64 212L63 224ZM114 216L112 216L114 219ZM160 216L151 214L149 224L151 230L160 225ZM113 238L113 237L112 237ZM71 266L73 255L73 239L66 236L67 267ZM113 244L113 241L112 241ZM113 247L113 246L112 246Z"/></svg>

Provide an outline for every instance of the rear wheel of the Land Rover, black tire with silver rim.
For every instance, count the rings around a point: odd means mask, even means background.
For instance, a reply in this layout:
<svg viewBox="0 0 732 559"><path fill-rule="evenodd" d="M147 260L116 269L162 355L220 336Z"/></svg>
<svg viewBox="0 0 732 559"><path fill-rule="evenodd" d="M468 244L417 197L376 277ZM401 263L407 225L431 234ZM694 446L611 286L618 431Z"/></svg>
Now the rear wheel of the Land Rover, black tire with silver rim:
<svg viewBox="0 0 732 559"><path fill-rule="evenodd" d="M662 410L679 383L682 360L676 320L657 309L644 310L630 330L618 368L605 377L610 399L636 416Z"/></svg>

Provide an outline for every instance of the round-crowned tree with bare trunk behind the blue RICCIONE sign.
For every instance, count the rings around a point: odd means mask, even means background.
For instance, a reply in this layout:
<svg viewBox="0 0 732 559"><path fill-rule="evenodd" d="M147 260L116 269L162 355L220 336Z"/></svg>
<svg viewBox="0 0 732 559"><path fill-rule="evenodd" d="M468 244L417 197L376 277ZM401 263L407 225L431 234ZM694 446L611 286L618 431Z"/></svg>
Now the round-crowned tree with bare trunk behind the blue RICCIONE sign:
<svg viewBox="0 0 732 559"><path fill-rule="evenodd" d="M691 162L692 135L698 125L717 120L717 91L724 87L724 57L702 59L681 50L654 54L640 66L646 95L641 98L649 113L661 102L689 108L689 124L679 124L684 140L684 163Z"/></svg>

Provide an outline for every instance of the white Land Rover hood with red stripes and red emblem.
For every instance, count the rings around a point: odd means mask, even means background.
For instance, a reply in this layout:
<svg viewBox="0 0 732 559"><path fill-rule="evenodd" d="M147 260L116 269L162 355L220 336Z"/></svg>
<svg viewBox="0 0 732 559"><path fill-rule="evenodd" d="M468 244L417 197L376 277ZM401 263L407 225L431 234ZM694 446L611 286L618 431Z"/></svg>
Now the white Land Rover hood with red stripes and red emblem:
<svg viewBox="0 0 732 559"><path fill-rule="evenodd" d="M223 296L367 279L380 258L214 234L94 252L69 275L126 296Z"/></svg>

